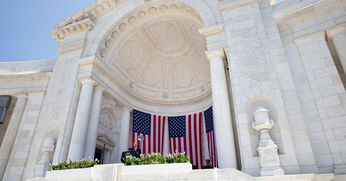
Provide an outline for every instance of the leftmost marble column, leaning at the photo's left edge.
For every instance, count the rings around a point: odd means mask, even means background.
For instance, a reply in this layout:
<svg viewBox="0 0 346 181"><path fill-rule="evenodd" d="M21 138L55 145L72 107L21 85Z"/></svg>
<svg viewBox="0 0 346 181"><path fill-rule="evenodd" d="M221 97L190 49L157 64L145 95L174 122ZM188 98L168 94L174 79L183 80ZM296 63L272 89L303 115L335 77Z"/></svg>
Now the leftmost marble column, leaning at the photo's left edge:
<svg viewBox="0 0 346 181"><path fill-rule="evenodd" d="M2 180L5 173L8 159L10 158L12 147L18 133L20 121L23 117L26 102L28 101L28 96L26 94L17 95L16 97L18 100L0 147L0 180Z"/></svg>

